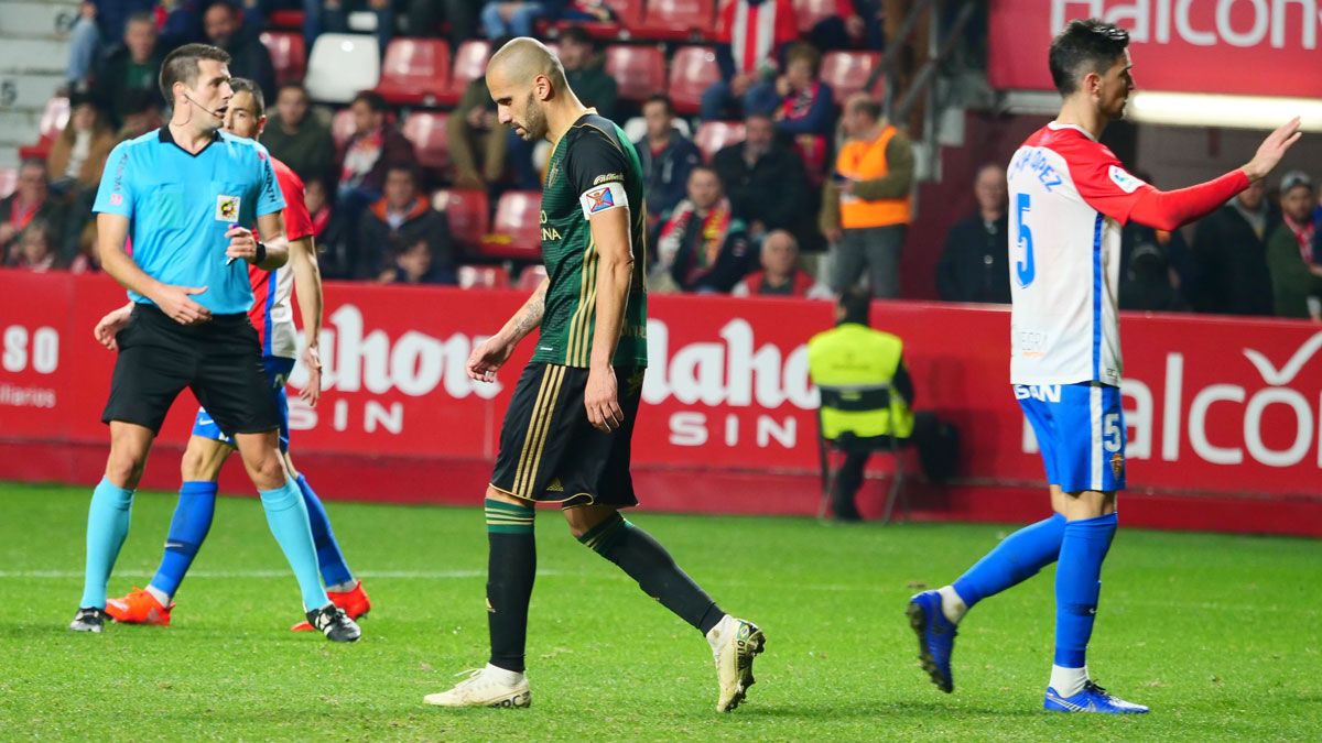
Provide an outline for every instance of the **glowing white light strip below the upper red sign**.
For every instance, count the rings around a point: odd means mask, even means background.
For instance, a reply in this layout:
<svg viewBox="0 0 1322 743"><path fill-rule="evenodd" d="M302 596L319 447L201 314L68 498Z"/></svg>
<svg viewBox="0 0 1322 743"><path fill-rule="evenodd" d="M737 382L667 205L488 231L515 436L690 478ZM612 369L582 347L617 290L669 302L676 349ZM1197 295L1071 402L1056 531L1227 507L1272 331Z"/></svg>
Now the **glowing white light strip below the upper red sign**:
<svg viewBox="0 0 1322 743"><path fill-rule="evenodd" d="M1159 93L1140 90L1125 118L1144 124L1274 130L1294 116L1302 128L1322 132L1322 100L1261 95Z"/></svg>

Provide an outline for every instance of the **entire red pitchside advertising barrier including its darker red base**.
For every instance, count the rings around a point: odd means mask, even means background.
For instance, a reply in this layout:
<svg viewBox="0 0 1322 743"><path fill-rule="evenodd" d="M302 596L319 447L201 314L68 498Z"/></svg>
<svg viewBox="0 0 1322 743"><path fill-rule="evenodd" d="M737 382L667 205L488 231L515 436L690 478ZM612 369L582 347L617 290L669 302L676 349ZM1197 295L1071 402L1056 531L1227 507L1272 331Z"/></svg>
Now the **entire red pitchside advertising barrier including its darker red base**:
<svg viewBox="0 0 1322 743"><path fill-rule="evenodd" d="M291 394L295 461L319 493L479 502L533 342L497 385L469 381L464 362L522 299L513 291L328 284L325 391L316 410ZM0 479L99 479L114 353L91 329L123 300L106 276L0 271ZM653 296L649 305L650 369L633 439L644 505L813 513L817 394L805 342L830 325L830 304ZM1009 313L878 303L874 324L906 340L917 407L961 434L958 479L908 487L912 517L1039 517L1047 509L1042 464L1006 381ZM1122 334L1126 525L1322 537L1322 331L1132 315ZM303 372L291 382L299 386ZM177 487L177 452L196 411L182 397L143 487ZM241 467L226 471L222 488L251 490ZM865 514L875 513L880 494L880 487L865 489Z"/></svg>

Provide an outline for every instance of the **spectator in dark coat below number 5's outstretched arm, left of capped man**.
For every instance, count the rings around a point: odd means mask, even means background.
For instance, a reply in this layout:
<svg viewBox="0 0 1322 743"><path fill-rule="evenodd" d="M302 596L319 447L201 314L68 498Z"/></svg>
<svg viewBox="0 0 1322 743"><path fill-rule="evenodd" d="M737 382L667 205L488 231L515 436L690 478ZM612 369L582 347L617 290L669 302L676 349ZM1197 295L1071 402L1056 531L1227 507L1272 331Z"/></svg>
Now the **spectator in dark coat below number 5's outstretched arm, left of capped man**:
<svg viewBox="0 0 1322 743"><path fill-rule="evenodd" d="M1266 200L1266 182L1259 180L1198 222L1195 309L1222 315L1273 313L1266 238L1280 221L1281 215Z"/></svg>

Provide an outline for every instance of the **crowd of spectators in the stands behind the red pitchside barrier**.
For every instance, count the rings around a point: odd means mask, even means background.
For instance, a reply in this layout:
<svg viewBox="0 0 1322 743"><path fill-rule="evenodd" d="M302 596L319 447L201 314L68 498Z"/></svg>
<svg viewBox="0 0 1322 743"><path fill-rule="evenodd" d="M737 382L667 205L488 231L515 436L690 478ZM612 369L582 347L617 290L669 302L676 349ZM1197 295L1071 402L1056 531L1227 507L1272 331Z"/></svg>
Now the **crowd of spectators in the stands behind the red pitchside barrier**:
<svg viewBox="0 0 1322 743"><path fill-rule="evenodd" d="M584 103L636 139L648 177L652 291L825 297L866 279L875 296L902 296L900 255L915 237L908 122L886 119L878 74L842 94L822 79L822 61L830 52L883 50L912 4L814 3L829 12L804 24L792 0L723 3L710 37L719 78L702 91L695 116L685 118L664 90L627 99L607 70L603 34L594 30L620 20L620 3L89 1L71 36L69 123L45 160L22 161L15 192L0 200L0 256L33 271L98 270L90 208L106 156L165 120L157 90L165 53L206 41L230 53L233 75L264 91L263 144L307 184L327 278L468 286L481 275L473 266L504 263L516 274L533 266L535 230L501 235L498 218L488 235L452 230L449 194L480 196L472 202L486 212L485 225L502 196L541 188L547 159L545 147L496 120L481 77L449 107L448 165L424 167L402 127L410 108L374 90L338 112L316 106L263 42L283 11L301 11L307 49L324 32L348 30L358 12L375 16L382 54L403 37L444 37L451 49L480 38L492 48L510 36L549 38ZM915 54L898 57L900 83L923 62ZM706 128L718 135L703 141L695 134L707 123L722 124ZM1298 171L1269 185L1277 188L1256 184L1183 233L1129 225L1121 307L1322 321L1318 189ZM945 235L937 293L1009 303L1003 164L981 168L972 188L977 212ZM533 245L522 255L490 251L490 238Z"/></svg>

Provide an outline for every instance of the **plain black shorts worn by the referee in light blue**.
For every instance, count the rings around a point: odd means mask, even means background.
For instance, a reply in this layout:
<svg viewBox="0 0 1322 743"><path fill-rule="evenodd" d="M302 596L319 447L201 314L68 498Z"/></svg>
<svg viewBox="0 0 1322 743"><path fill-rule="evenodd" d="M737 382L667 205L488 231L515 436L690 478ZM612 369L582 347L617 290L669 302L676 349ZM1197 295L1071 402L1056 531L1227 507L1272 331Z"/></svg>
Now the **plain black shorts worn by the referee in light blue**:
<svg viewBox="0 0 1322 743"><path fill-rule="evenodd" d="M103 423L136 423L159 434L169 406L189 387L222 431L262 434L280 427L262 369L262 344L247 315L213 315L208 323L180 325L153 304L136 304L115 341L119 358Z"/></svg>

